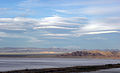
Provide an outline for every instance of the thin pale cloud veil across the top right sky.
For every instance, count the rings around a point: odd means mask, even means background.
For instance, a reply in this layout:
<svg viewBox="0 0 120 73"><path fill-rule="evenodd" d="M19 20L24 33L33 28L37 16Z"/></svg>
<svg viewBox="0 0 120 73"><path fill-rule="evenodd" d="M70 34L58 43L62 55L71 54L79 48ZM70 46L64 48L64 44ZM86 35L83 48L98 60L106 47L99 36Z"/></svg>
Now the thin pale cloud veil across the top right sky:
<svg viewBox="0 0 120 73"><path fill-rule="evenodd" d="M74 1L75 2L75 1ZM90 16L99 16L101 17L101 15L105 16L105 15L119 15L120 13L120 1L118 0L111 0L111 1L80 1L80 2L76 2L76 3L68 3L67 5L71 5L71 6L78 6L76 8L65 8L63 9L56 9L56 12L60 12L60 13L67 13L67 14L77 14L77 15L90 15ZM111 5L112 4L112 5ZM82 7L80 7L82 6Z"/></svg>

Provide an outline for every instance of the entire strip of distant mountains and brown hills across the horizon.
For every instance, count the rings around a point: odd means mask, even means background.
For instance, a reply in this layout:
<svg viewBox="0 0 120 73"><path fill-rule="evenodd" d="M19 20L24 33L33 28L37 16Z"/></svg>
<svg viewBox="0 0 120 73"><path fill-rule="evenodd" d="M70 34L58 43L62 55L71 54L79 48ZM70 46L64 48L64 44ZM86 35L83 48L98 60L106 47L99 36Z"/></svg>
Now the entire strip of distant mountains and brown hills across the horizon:
<svg viewBox="0 0 120 73"><path fill-rule="evenodd" d="M83 50L65 48L0 48L0 57L8 56L32 56L41 57L41 54L48 54L42 57L82 57L82 58L115 58L120 59L119 49L104 50ZM54 54L54 56L50 56Z"/></svg>

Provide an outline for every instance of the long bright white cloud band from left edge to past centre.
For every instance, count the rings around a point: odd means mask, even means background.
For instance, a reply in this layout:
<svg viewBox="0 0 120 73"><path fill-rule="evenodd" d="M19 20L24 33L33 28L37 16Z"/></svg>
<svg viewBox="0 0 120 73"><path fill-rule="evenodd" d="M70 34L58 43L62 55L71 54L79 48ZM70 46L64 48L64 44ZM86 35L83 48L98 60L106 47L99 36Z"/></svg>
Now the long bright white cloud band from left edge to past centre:
<svg viewBox="0 0 120 73"><path fill-rule="evenodd" d="M79 22L84 23L86 19L87 18L85 17L65 18L60 16L45 17L42 19L23 18L23 17L0 18L0 29L24 30L24 31L28 29L45 29L45 28L76 29L76 28L70 28L69 26L80 25Z"/></svg>

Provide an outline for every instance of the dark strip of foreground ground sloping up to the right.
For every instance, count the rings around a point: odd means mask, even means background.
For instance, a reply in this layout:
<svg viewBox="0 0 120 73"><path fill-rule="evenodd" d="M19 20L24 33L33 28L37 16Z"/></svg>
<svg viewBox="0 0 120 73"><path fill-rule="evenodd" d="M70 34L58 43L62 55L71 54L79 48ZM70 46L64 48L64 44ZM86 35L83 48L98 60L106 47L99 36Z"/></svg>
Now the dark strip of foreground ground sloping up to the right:
<svg viewBox="0 0 120 73"><path fill-rule="evenodd" d="M80 72L91 72L103 69L120 68L120 64L106 64L106 65L95 65L95 66L75 66L65 68L46 68L46 69L25 69L16 70L0 73L80 73Z"/></svg>

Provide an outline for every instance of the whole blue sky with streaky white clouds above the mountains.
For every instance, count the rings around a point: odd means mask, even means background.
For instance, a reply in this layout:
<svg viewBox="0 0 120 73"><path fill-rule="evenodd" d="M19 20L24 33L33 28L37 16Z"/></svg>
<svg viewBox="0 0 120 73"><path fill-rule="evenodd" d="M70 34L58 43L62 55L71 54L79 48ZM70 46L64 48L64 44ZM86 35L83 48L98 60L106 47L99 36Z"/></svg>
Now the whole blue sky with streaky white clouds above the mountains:
<svg viewBox="0 0 120 73"><path fill-rule="evenodd" d="M120 49L120 0L0 0L0 47Z"/></svg>

